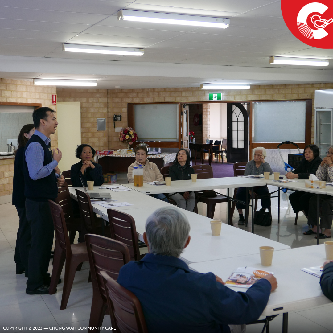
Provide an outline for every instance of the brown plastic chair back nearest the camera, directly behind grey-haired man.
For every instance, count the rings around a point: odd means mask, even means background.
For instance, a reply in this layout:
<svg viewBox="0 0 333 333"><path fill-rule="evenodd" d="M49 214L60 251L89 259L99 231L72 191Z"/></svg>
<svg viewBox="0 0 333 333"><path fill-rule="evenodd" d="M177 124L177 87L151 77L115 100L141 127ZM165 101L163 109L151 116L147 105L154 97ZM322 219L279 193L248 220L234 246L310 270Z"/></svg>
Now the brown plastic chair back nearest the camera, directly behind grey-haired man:
<svg viewBox="0 0 333 333"><path fill-rule="evenodd" d="M105 271L101 271L111 323L121 333L148 333L140 301Z"/></svg>

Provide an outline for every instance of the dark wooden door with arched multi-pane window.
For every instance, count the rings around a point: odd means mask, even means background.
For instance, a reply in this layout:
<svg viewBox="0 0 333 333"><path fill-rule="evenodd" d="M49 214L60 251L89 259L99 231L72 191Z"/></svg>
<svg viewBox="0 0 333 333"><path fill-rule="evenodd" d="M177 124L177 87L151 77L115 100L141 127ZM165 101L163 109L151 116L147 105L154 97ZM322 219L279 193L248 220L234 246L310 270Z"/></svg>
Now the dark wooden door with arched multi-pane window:
<svg viewBox="0 0 333 333"><path fill-rule="evenodd" d="M227 103L227 162L248 161L249 103Z"/></svg>

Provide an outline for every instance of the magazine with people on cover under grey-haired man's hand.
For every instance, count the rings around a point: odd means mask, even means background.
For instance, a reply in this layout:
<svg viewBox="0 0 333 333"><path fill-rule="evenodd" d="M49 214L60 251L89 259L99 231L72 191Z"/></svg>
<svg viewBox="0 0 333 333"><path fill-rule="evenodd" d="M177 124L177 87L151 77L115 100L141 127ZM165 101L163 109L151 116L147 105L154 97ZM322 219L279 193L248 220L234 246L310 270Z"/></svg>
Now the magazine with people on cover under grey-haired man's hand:
<svg viewBox="0 0 333 333"><path fill-rule="evenodd" d="M240 288L249 288L262 277L274 274L253 267L238 267L225 281L226 285Z"/></svg>

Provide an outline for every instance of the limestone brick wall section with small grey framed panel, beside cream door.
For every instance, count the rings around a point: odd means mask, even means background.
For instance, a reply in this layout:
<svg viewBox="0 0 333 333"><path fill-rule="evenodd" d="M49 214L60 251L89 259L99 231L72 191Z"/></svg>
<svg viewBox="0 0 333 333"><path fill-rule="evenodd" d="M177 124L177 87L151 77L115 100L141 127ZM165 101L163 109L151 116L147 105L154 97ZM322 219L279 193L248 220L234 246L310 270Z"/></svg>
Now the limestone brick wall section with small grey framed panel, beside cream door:
<svg viewBox="0 0 333 333"><path fill-rule="evenodd" d="M108 148L108 132L113 120L108 118L106 89L57 89L57 102L80 102L81 142L95 150ZM106 131L97 131L96 119L106 118ZM126 120L127 124L127 120Z"/></svg>

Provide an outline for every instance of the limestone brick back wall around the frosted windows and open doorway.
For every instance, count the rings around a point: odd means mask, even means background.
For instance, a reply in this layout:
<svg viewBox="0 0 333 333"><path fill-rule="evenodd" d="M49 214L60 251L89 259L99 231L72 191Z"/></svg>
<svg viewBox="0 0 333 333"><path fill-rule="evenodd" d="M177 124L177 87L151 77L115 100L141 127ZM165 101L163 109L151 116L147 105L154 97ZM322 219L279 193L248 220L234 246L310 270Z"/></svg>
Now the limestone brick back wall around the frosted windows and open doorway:
<svg viewBox="0 0 333 333"><path fill-rule="evenodd" d="M247 90L223 90L223 101L251 100L293 100L312 99L312 142L314 141L314 92L333 89L333 83L291 84L251 86ZM196 88L152 88L152 89L113 89L108 91L109 115L121 114L122 124L127 126L127 103L167 103L167 102L205 102L209 103L208 91ZM209 106L203 106L203 140L209 137ZM119 146L118 133L109 128L108 146Z"/></svg>

